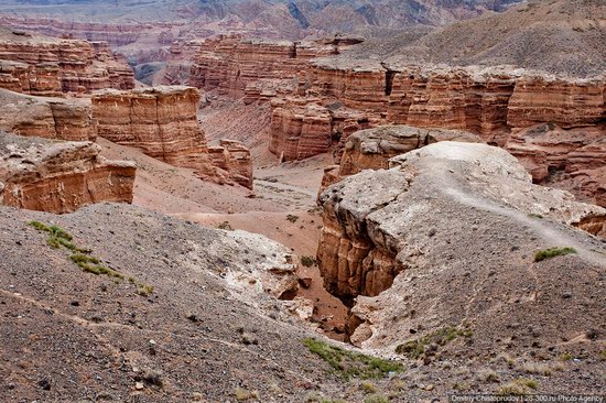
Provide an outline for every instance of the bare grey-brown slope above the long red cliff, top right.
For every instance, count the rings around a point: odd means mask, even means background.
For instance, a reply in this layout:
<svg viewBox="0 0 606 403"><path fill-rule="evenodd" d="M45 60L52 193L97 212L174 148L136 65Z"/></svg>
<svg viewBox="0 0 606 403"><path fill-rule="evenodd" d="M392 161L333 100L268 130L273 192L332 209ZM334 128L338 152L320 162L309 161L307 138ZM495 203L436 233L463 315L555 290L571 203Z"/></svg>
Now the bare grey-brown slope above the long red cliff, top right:
<svg viewBox="0 0 606 403"><path fill-rule="evenodd" d="M606 2L531 1L425 35L379 35L346 57L392 63L513 65L575 76L606 70Z"/></svg>

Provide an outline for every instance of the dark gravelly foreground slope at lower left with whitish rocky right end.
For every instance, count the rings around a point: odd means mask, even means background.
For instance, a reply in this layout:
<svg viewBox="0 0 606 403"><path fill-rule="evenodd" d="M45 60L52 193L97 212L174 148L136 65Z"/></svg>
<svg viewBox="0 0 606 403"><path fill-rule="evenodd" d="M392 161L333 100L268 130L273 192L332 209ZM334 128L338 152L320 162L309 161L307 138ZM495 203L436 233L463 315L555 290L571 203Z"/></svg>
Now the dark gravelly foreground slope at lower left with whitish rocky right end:
<svg viewBox="0 0 606 403"><path fill-rule="evenodd" d="M83 272L64 249L47 247L46 236L28 226L31 220L65 229L75 244L90 248L101 264L137 284ZM0 206L0 282L12 285L0 290L2 312L23 312L19 319L0 317L3 368L8 383L15 385L0 392L3 400L75 402L90 395L61 371L89 379L93 393L116 401L132 399L137 382L144 388L137 397L142 402L162 401L167 388L174 402L196 394L232 400L236 386L225 377L230 372L268 400L297 402L305 389L289 386L323 377L328 368L302 345L312 335L289 324L299 319L273 296L282 295L290 280L296 285L297 259L264 237L112 204L63 216ZM138 284L153 292L138 295ZM257 345L245 345L242 331ZM19 351L32 334L37 341L30 346L31 358L30 352L24 358ZM83 359L83 349L94 358ZM272 358L260 359L261 349L273 351ZM61 367L56 355L65 359ZM35 367L19 369L23 359L34 358ZM268 366L284 369L284 378ZM148 373L155 375L150 380ZM42 379L48 390L39 385ZM281 391L272 392L272 383ZM337 385L327 378L321 389L333 393Z"/></svg>

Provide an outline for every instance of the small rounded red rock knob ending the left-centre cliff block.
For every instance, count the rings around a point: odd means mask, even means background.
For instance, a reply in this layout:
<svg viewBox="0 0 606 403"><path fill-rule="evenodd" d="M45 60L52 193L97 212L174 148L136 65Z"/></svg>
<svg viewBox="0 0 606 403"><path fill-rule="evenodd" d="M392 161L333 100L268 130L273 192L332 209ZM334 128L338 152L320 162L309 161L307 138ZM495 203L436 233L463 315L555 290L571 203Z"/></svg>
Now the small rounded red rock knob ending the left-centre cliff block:
<svg viewBox="0 0 606 403"><path fill-rule="evenodd" d="M229 181L252 189L252 157L241 142L223 139L220 145L209 146L208 153L213 164L224 171Z"/></svg>

